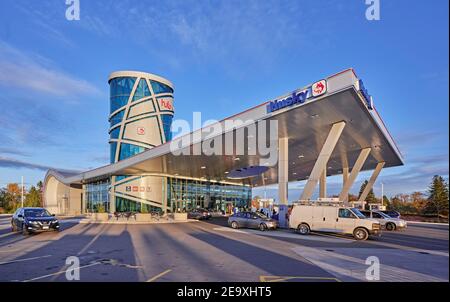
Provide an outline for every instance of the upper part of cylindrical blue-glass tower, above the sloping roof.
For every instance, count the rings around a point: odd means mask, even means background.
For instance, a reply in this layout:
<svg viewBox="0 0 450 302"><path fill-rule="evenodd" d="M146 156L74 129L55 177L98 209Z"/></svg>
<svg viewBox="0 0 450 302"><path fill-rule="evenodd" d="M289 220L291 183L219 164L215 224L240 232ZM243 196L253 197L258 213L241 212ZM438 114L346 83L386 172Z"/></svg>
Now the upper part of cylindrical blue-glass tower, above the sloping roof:
<svg viewBox="0 0 450 302"><path fill-rule="evenodd" d="M110 84L110 159L118 162L171 140L173 85L150 73L113 72Z"/></svg>

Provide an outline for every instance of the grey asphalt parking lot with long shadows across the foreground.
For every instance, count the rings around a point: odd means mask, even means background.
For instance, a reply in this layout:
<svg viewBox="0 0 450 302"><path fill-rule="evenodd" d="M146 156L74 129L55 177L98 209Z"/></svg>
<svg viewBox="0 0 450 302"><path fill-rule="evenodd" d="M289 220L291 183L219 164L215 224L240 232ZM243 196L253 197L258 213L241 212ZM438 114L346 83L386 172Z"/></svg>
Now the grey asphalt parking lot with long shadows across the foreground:
<svg viewBox="0 0 450 302"><path fill-rule="evenodd" d="M357 242L332 234L233 230L226 219L176 224L79 224L31 236L0 218L0 281L367 281L378 257L381 281L448 281L448 225L410 224Z"/></svg>

